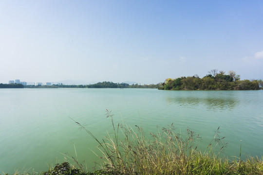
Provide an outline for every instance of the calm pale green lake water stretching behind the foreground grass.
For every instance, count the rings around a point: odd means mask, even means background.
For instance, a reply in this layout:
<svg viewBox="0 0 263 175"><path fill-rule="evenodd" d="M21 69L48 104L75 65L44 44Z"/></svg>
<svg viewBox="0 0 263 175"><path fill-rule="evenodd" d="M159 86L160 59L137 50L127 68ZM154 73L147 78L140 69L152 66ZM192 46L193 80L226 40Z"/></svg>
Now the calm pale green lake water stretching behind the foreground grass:
<svg viewBox="0 0 263 175"><path fill-rule="evenodd" d="M123 119L147 134L157 125L174 123L182 132L189 127L202 136L201 148L220 126L229 142L226 156L239 156L241 144L243 158L263 155L263 90L0 89L0 174L46 171L63 154L75 156L74 145L78 160L93 167L97 143L70 117L103 138L111 131L105 109L113 110L115 123Z"/></svg>

